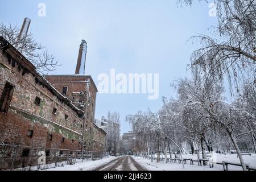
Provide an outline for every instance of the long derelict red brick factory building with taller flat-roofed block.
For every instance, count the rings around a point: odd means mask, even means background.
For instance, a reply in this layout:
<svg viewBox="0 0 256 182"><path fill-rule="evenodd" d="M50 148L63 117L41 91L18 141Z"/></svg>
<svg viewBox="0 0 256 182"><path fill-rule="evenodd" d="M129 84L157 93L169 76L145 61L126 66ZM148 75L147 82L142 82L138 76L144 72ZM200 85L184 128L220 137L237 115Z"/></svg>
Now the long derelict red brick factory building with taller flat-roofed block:
<svg viewBox="0 0 256 182"><path fill-rule="evenodd" d="M85 75L46 78L0 37L0 143L42 148L47 156L56 155L47 148L57 152L81 150L85 143L85 149L90 149L97 93L92 78ZM1 156L11 155L1 152ZM25 147L16 151L16 155L38 156L36 152ZM18 160L16 166L20 163L26 166L32 162Z"/></svg>

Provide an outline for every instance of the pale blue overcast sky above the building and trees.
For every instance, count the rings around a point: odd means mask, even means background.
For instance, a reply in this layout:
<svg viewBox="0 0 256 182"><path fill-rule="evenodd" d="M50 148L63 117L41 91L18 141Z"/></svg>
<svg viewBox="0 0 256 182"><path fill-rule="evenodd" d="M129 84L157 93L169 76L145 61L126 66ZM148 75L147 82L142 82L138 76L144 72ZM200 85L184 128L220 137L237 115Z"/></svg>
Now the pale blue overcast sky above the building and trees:
<svg viewBox="0 0 256 182"><path fill-rule="evenodd" d="M209 1L210 3L211 1ZM38 16L45 3L46 16ZM197 48L186 40L216 25L208 15L209 3L177 7L176 1L16 1L0 0L0 23L22 25L31 19L30 31L59 60L51 74L75 73L79 45L88 44L85 72L96 85L100 73L159 73L159 98L147 94L97 94L96 118L108 111L121 115L121 133L130 130L127 114L148 107L156 111L161 97L176 97L170 83L189 75L186 65Z"/></svg>

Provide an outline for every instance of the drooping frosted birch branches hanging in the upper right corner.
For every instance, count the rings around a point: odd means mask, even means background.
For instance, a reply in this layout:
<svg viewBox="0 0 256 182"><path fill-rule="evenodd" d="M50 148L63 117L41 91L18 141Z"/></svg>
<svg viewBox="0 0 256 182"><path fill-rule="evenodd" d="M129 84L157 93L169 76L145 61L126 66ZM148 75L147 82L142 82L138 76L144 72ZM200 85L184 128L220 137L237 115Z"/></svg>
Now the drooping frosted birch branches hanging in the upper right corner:
<svg viewBox="0 0 256 182"><path fill-rule="evenodd" d="M191 5L193 1L179 2ZM200 48L192 53L190 67L199 66L206 80L214 82L222 81L226 75L230 88L239 92L240 82L246 78L256 82L256 1L214 0L214 3L218 25L212 27L209 36L192 37L199 41Z"/></svg>

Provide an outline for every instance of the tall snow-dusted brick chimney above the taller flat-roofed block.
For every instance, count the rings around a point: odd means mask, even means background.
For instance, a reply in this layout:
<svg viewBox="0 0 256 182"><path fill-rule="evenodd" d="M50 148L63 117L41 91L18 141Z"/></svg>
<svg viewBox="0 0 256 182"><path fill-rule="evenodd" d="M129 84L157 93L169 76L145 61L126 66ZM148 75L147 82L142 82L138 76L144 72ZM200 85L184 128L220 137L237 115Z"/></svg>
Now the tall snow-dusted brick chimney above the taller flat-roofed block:
<svg viewBox="0 0 256 182"><path fill-rule="evenodd" d="M87 43L82 40L79 48L79 57L76 64L76 74L85 75L85 60L86 60Z"/></svg>

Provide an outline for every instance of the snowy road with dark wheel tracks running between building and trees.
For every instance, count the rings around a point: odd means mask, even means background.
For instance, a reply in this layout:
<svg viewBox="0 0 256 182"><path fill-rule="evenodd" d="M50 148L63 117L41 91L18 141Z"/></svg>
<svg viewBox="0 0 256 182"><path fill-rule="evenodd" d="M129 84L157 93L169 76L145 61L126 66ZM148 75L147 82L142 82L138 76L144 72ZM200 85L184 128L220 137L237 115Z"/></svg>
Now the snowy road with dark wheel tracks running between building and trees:
<svg viewBox="0 0 256 182"><path fill-rule="evenodd" d="M123 156L94 169L96 171L146 171L131 156Z"/></svg>

